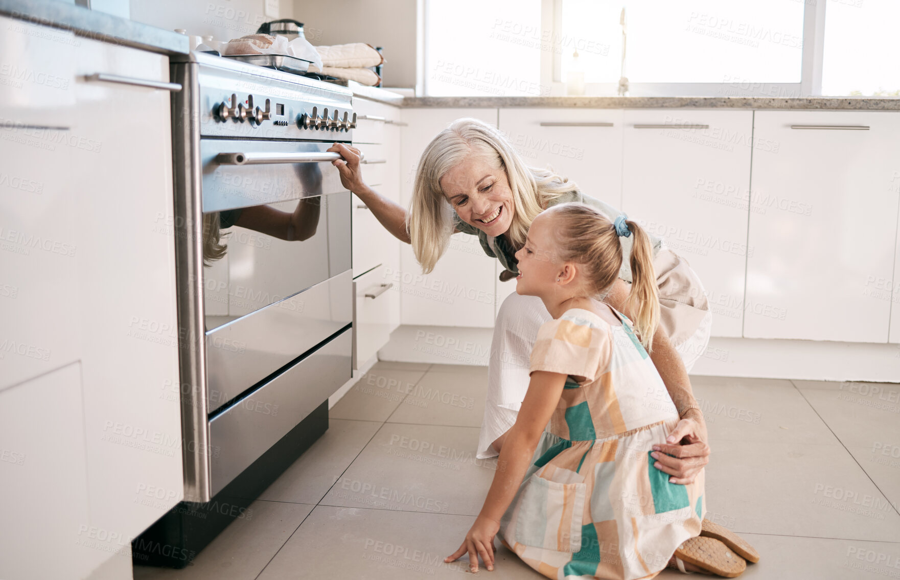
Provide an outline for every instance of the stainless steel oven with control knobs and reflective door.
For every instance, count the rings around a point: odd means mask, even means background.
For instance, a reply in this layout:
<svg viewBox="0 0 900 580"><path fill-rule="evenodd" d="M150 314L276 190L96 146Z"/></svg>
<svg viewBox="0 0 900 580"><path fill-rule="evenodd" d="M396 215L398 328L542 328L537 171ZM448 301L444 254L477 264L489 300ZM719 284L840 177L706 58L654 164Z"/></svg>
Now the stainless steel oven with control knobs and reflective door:
<svg viewBox="0 0 900 580"><path fill-rule="evenodd" d="M209 502L351 377L351 93L172 65L185 500Z"/></svg>

